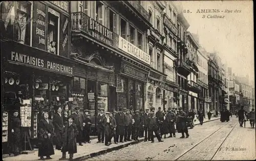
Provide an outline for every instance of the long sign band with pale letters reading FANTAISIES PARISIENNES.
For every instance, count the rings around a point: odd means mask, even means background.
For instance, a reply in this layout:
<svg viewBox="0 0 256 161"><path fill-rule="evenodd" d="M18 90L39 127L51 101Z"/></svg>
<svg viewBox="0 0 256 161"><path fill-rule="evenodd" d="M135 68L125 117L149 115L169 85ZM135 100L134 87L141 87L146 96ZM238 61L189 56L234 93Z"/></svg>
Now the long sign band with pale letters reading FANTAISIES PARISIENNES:
<svg viewBox="0 0 256 161"><path fill-rule="evenodd" d="M25 50L24 50L25 51ZM31 53L30 53L31 55ZM73 67L60 64L59 62L53 62L46 60L49 57L44 57L41 55L30 56L24 53L11 51L8 55L8 61L15 64L26 65L34 68L41 68L50 71L59 72L62 74L73 75Z"/></svg>

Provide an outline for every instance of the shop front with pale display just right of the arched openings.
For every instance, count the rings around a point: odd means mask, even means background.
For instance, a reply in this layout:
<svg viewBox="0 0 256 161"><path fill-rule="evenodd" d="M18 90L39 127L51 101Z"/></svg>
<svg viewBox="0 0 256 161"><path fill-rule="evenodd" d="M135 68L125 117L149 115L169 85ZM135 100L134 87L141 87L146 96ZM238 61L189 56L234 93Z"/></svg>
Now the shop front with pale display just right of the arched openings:
<svg viewBox="0 0 256 161"><path fill-rule="evenodd" d="M166 81L165 90L164 90L164 110L168 110L168 108L178 108L177 106L177 96L179 92L179 87L175 86L172 82Z"/></svg>

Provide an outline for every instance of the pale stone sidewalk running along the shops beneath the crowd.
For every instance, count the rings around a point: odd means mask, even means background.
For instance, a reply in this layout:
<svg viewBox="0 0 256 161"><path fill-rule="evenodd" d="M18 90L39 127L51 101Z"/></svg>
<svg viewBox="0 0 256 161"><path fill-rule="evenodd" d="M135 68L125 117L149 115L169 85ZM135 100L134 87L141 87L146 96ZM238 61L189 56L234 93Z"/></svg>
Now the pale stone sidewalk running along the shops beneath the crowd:
<svg viewBox="0 0 256 161"><path fill-rule="evenodd" d="M218 119L220 119L220 118L211 118L210 120L208 120L208 118L207 118L207 119L204 119L204 123L209 122L209 121L218 120ZM195 123L195 125L198 125L199 121L196 120L194 123ZM196 128L196 127L194 127L194 128ZM92 136L91 138L95 138L95 136ZM107 152L110 152L110 151L113 151L113 150L118 150L118 149L127 147L127 146L132 145L132 144L137 144L137 143L139 143L143 140L144 140L144 138L139 138L138 142L137 141L130 141L130 142L113 144L114 141L112 139L112 145L105 146L104 143L96 143L98 140L97 140L97 138L95 138L95 139L91 140L91 144L88 144L88 143L84 144L83 143L83 146L78 146L77 145L77 153L74 154L74 160L82 160L82 159L86 159L86 158L93 157L93 156L96 156L96 155L100 155L100 154L103 154L103 153L107 153ZM34 153L20 154L18 156L5 157L5 158L3 158L3 160L5 160L5 161L13 161L13 160L32 161L32 160L38 160L39 159L39 157L37 155L38 155L38 149L36 149ZM60 150L55 150L55 154L51 156L53 158L51 160L52 161L58 160L61 156L62 156L61 151ZM67 158L69 158L68 152L67 152Z"/></svg>

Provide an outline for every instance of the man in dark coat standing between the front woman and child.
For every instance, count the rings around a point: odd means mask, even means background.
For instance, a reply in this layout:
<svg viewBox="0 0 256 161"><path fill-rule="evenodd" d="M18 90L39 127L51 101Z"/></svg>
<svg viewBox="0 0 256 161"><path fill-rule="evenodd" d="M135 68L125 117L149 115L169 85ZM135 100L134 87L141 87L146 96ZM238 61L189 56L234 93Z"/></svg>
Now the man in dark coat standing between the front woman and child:
<svg viewBox="0 0 256 161"><path fill-rule="evenodd" d="M63 125L63 117L61 115L61 107L59 106L57 109L57 113L53 115L53 120L52 123L54 125L54 132L56 134L56 149L61 150L62 146L62 133L64 130L64 125Z"/></svg>

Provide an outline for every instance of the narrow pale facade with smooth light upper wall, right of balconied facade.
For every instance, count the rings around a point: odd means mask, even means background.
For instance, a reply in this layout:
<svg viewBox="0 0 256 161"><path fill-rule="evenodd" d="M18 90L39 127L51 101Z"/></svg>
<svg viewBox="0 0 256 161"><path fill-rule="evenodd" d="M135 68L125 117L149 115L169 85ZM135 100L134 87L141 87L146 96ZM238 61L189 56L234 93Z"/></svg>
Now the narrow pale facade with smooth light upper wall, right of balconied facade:
<svg viewBox="0 0 256 161"><path fill-rule="evenodd" d="M208 58L206 56L204 48L198 49L198 79L197 83L200 86L199 93L199 109L204 109L204 114L207 116L207 112L210 111L210 97L208 91Z"/></svg>

